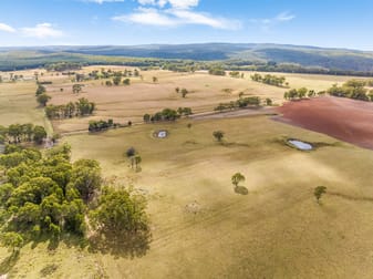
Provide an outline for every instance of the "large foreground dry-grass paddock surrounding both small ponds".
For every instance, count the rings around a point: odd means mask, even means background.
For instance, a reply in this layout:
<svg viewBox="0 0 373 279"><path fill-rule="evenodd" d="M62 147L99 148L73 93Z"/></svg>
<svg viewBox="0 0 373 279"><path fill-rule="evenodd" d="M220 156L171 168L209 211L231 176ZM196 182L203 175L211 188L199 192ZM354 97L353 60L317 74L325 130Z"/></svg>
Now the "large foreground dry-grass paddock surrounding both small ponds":
<svg viewBox="0 0 373 279"><path fill-rule="evenodd" d="M373 152L265 116L187 123L64 138L73 159L99 159L108 182L145 193L149 249L131 258L126 250L73 248L68 257L64 245L52 254L46 245L27 247L11 275L38 277L54 261L55 278L371 277ZM169 137L154 138L158 130ZM213 140L215 130L226 132L222 145ZM299 152L284 137L325 146ZM139 173L122 156L129 146L143 157ZM247 195L230 184L236 172L247 178L240 184ZM312 194L318 185L330 193L322 206Z"/></svg>

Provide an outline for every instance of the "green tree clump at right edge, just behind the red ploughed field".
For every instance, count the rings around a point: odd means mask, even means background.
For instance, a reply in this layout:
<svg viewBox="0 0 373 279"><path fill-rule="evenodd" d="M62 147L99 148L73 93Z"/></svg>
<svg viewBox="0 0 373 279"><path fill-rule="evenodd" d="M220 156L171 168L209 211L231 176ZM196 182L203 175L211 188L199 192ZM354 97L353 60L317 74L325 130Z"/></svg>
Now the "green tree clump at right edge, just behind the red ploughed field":
<svg viewBox="0 0 373 279"><path fill-rule="evenodd" d="M351 80L346 81L342 86L334 84L328 90L328 93L332 96L350 97L361 101L373 102L373 90L367 90L365 86L371 86L372 81Z"/></svg>

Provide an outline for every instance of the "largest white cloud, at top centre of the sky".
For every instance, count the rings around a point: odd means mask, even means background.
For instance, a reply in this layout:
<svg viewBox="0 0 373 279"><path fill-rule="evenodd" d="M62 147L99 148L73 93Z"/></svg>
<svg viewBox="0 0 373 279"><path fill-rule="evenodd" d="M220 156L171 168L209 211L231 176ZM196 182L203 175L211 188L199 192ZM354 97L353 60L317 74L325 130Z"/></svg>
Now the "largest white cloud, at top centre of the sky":
<svg viewBox="0 0 373 279"><path fill-rule="evenodd" d="M133 22L144 25L178 27L185 24L207 25L216 29L238 29L237 20L213 17L193 11L199 0L137 0L143 7L129 14L112 18L116 21ZM166 4L170 8L166 8ZM145 8L152 6L152 8Z"/></svg>

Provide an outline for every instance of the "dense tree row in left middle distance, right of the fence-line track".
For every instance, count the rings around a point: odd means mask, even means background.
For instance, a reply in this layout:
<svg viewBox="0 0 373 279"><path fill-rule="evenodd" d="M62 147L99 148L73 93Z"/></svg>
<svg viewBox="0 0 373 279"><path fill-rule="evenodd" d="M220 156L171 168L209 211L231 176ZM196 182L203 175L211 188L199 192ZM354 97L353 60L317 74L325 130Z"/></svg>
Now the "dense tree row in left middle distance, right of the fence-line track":
<svg viewBox="0 0 373 279"><path fill-rule="evenodd" d="M91 115L96 105L85 97L81 97L77 102L69 102L64 105L46 105L45 114L49 118L72 118L74 116Z"/></svg>

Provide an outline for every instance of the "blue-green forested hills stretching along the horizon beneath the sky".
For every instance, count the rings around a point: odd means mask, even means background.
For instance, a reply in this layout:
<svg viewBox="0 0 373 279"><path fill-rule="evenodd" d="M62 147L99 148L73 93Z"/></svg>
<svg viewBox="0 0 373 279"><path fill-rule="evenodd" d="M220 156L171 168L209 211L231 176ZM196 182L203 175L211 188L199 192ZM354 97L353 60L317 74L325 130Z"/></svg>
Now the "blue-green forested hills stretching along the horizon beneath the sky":
<svg viewBox="0 0 373 279"><path fill-rule="evenodd" d="M220 61L238 65L281 63L302 68L373 72L373 52L255 43L0 48L0 70L58 61L123 62L123 58Z"/></svg>

